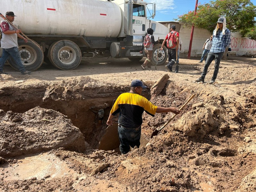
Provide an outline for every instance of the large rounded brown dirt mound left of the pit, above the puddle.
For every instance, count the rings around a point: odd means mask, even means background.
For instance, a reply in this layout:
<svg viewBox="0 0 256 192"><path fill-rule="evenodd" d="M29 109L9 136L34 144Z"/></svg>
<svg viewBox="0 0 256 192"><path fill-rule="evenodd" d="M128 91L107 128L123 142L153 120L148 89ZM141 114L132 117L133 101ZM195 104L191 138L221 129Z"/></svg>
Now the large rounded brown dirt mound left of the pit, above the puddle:
<svg viewBox="0 0 256 192"><path fill-rule="evenodd" d="M84 137L70 119L52 109L36 107L19 114L0 111L0 156L15 157L54 148L83 152Z"/></svg>

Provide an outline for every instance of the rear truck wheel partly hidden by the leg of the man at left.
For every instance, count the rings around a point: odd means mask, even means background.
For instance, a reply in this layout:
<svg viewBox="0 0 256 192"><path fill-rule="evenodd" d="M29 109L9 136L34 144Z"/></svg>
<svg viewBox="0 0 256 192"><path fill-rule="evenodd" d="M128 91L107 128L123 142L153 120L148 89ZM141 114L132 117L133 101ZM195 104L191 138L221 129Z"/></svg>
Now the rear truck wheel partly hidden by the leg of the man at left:
<svg viewBox="0 0 256 192"><path fill-rule="evenodd" d="M44 62L44 52L39 44L33 40L28 40L28 43L25 43L24 40L18 40L19 52L21 57L21 62L24 65L25 69L28 71L35 71L40 68ZM8 59L12 68L19 71L16 63L9 57Z"/></svg>

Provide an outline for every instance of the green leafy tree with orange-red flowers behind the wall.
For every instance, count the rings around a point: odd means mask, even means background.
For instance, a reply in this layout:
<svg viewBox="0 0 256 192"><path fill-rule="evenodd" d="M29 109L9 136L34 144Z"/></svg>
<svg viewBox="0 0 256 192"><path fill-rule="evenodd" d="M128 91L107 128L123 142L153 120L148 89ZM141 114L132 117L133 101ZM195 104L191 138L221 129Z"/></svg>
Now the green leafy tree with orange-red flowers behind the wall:
<svg viewBox="0 0 256 192"><path fill-rule="evenodd" d="M224 16L231 32L252 28L256 25L256 6L250 0L216 0L198 4L197 12L190 11L177 19L184 25L194 25L213 31L218 18Z"/></svg>

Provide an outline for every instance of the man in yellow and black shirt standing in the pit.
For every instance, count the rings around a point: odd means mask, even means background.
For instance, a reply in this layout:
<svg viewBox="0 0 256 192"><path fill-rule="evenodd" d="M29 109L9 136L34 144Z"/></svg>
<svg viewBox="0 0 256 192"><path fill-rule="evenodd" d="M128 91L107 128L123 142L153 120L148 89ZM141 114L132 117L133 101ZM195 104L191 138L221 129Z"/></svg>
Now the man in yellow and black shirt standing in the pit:
<svg viewBox="0 0 256 192"><path fill-rule="evenodd" d="M130 92L119 95L108 117L107 124L112 125L112 118L119 113L118 137L122 154L128 153L130 146L132 148L135 146L140 147L142 113L144 111L151 116L155 116L155 113L180 113L180 110L174 107L157 107L153 105L145 97L141 96L143 88L147 87L140 80L133 80Z"/></svg>

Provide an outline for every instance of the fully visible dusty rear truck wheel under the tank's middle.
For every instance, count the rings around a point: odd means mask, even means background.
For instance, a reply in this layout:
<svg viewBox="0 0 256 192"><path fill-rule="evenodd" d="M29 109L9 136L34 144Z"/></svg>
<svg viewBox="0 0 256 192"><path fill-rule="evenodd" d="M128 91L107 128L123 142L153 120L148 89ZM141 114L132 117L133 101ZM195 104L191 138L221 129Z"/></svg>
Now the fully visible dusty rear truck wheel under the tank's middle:
<svg viewBox="0 0 256 192"><path fill-rule="evenodd" d="M51 45L49 59L57 68L72 70L80 64L82 53L73 41L60 40Z"/></svg>

